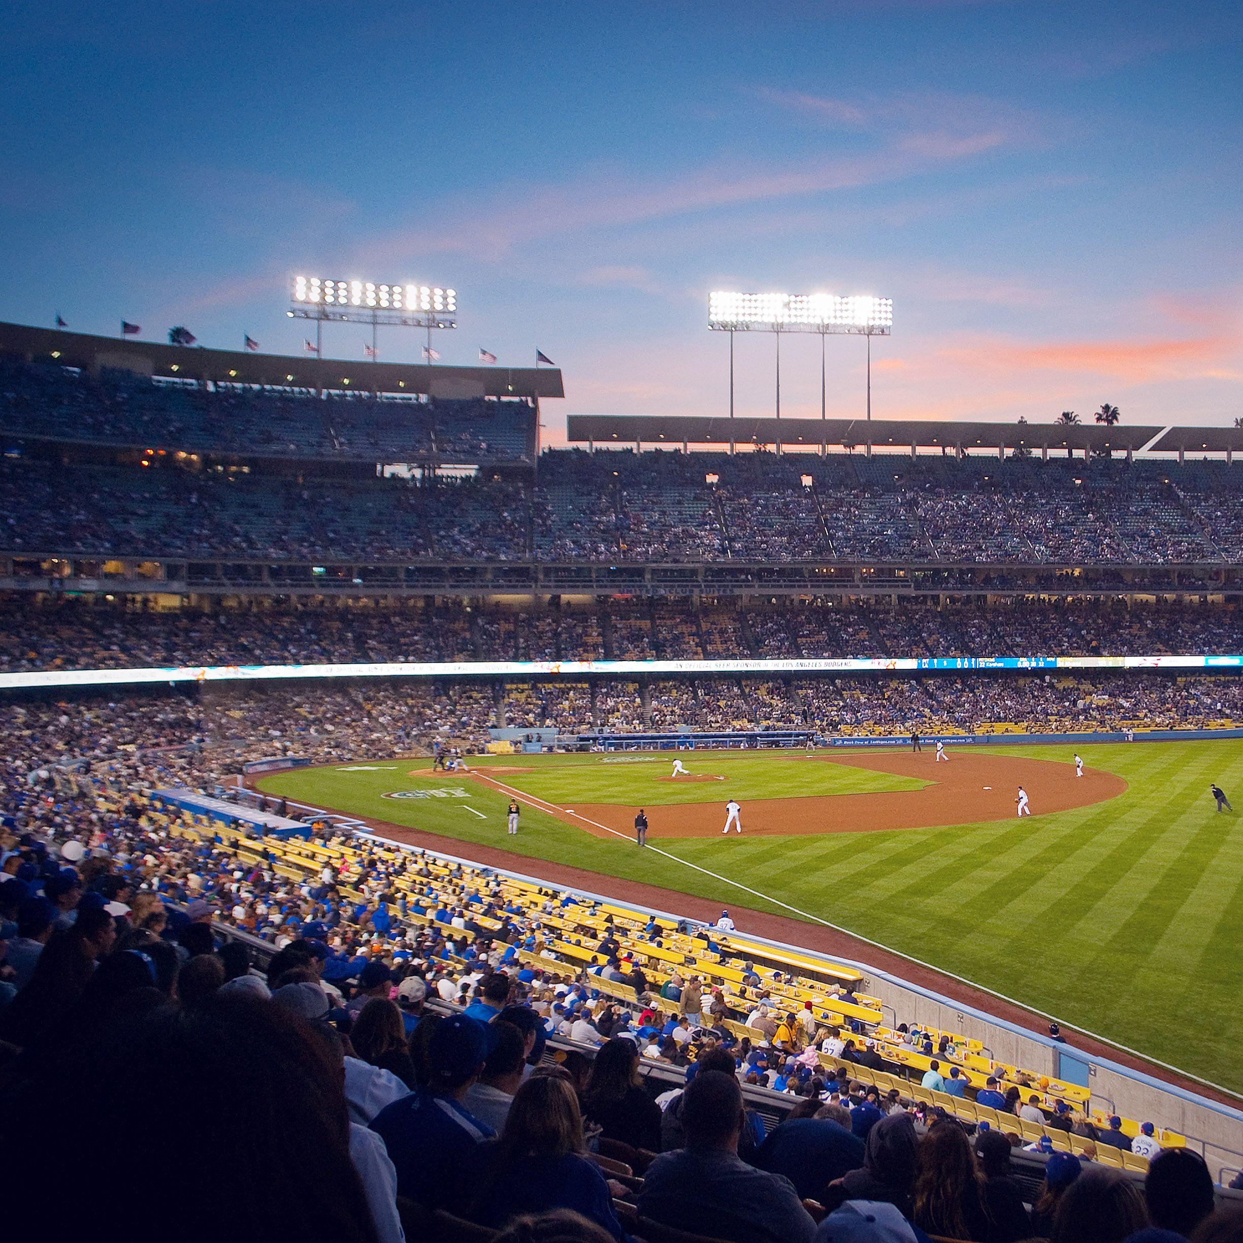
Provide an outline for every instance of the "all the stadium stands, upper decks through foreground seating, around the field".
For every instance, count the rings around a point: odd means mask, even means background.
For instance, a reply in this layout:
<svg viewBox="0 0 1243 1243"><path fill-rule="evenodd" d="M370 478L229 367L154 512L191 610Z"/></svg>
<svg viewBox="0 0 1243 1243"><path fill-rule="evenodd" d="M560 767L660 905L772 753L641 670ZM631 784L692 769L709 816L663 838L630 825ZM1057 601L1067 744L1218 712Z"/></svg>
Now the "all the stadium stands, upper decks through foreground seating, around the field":
<svg viewBox="0 0 1243 1243"><path fill-rule="evenodd" d="M11 324L0 355L0 675L46 675L0 700L0 1134L44 1231L140 1201L133 1238L216 1238L232 1224L185 1211L210 1188L247 1238L527 1239L525 1214L567 1211L567 1237L792 1243L837 1238L860 1199L894 1239L1238 1237L1213 1181L1233 1173L1190 1129L886 1013L849 962L272 802L215 819L155 793L495 731L1212 731L1243 722L1232 674L62 685L153 665L1239 655L1228 460L1131 460L1150 438L1114 452L1108 429L1059 430L1055 460L1049 429L972 455L953 424L910 456L541 452L559 372Z"/></svg>

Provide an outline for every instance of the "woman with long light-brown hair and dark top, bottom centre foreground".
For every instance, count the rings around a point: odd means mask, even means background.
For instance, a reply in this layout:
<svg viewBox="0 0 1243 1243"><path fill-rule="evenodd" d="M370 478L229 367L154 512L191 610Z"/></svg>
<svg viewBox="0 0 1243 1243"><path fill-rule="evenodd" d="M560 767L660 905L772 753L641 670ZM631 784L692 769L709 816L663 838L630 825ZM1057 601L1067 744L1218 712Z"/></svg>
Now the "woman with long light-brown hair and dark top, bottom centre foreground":
<svg viewBox="0 0 1243 1243"><path fill-rule="evenodd" d="M526 1213L569 1208L625 1243L613 1193L585 1147L573 1088L559 1075L532 1075L513 1095L471 1218L500 1228Z"/></svg>

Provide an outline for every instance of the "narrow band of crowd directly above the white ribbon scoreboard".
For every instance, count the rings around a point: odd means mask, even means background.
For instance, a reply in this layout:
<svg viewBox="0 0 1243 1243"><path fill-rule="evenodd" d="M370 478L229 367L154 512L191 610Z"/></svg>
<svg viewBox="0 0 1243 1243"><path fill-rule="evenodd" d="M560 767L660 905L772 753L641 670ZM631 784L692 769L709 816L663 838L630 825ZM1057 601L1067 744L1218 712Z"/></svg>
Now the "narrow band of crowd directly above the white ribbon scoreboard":
<svg viewBox="0 0 1243 1243"><path fill-rule="evenodd" d="M0 671L436 660L1151 656L1243 651L1234 604L1078 598L941 608L689 600L536 612L372 600L157 610L0 597Z"/></svg>

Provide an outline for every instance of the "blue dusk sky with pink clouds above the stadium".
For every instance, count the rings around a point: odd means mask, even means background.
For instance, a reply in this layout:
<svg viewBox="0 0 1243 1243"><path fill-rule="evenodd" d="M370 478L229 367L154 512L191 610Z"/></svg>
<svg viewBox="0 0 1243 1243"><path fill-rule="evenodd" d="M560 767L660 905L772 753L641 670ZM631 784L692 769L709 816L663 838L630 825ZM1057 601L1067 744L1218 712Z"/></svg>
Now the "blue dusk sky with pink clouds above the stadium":
<svg viewBox="0 0 1243 1243"><path fill-rule="evenodd" d="M876 418L1243 415L1243 6L0 0L0 318L300 353L295 273L451 286L446 363L726 414L711 290L874 293ZM326 333L360 359L369 329ZM380 355L416 360L389 329ZM819 341L782 415L820 413ZM827 413L864 342L827 342ZM736 338L767 415L774 341Z"/></svg>

